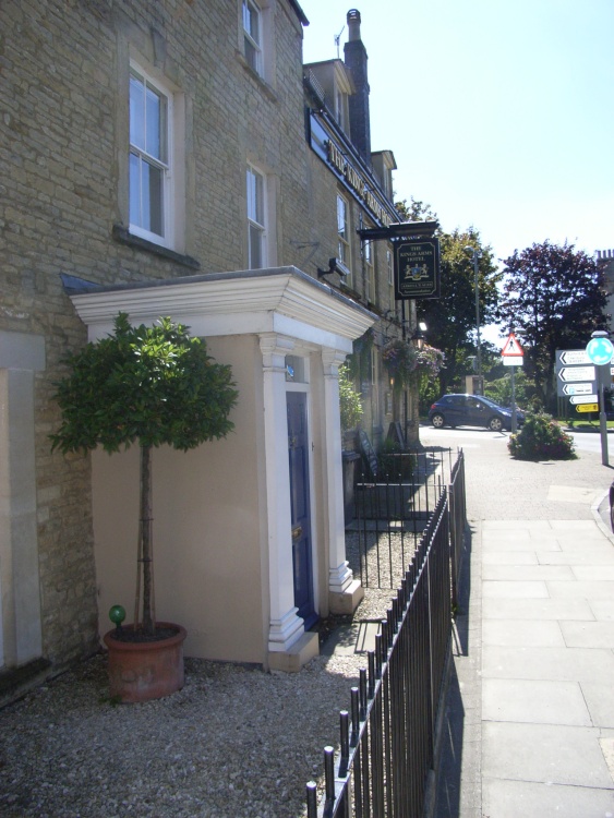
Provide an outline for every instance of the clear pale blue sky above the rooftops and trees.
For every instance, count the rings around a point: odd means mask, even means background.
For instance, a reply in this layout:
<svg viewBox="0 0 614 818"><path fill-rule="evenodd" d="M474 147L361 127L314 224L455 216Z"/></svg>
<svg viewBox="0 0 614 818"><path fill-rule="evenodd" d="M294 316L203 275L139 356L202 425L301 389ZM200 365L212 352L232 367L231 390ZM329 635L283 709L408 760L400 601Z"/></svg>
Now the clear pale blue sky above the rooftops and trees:
<svg viewBox="0 0 614 818"><path fill-rule="evenodd" d="M357 8L371 141L398 199L497 258L549 239L614 249L614 0L300 0L303 58L337 57Z"/></svg>

